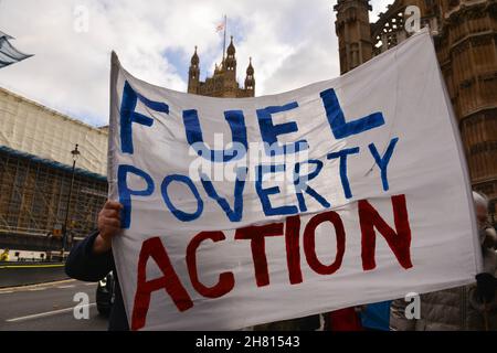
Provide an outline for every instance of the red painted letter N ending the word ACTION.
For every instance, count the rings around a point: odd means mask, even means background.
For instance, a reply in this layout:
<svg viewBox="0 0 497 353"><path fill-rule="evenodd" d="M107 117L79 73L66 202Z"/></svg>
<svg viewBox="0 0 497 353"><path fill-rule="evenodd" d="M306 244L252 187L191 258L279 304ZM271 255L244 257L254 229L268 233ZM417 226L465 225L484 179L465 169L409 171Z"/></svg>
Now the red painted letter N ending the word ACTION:
<svg viewBox="0 0 497 353"><path fill-rule="evenodd" d="M362 268L364 270L374 269L374 248L377 236L374 227L383 235L399 264L408 269L411 263L411 228L409 227L408 207L405 195L392 196L393 218L396 233L383 221L377 210L366 201L359 201L359 220L362 233Z"/></svg>

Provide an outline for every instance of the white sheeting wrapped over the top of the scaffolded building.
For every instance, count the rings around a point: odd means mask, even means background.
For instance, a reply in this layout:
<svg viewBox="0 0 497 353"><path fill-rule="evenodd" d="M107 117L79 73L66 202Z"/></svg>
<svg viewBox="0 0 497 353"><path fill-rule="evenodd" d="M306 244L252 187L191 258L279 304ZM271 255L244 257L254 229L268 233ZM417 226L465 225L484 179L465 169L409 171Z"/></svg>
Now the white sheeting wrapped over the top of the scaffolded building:
<svg viewBox="0 0 497 353"><path fill-rule="evenodd" d="M72 165L76 143L77 167L106 175L106 128L94 128L0 88L1 146Z"/></svg>

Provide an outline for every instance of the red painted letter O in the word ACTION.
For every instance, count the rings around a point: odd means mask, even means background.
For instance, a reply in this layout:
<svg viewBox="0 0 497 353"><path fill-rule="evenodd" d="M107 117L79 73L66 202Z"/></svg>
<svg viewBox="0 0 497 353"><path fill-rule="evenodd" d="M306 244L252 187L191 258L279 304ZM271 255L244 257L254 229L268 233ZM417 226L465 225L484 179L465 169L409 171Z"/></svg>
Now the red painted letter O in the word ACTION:
<svg viewBox="0 0 497 353"><path fill-rule="evenodd" d="M316 255L316 228L324 222L330 222L335 226L337 237L337 255L331 265L322 265ZM304 231L304 253L306 254L307 264L319 275L335 274L341 266L346 247L345 228L340 216L336 212L326 212L310 218Z"/></svg>

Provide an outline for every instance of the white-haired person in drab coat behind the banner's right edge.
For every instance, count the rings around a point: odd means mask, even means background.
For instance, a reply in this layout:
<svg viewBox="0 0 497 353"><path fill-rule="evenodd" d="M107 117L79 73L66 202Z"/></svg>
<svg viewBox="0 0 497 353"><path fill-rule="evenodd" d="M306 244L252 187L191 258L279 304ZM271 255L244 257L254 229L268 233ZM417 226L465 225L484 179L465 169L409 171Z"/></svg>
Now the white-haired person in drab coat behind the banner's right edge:
<svg viewBox="0 0 497 353"><path fill-rule="evenodd" d="M479 240L484 259L484 272L476 276L476 285L421 295L420 319L409 320L405 307L409 302L392 302L390 328L395 331L416 330L493 330L497 331L497 301L495 297L497 236L488 223L488 200L474 192Z"/></svg>

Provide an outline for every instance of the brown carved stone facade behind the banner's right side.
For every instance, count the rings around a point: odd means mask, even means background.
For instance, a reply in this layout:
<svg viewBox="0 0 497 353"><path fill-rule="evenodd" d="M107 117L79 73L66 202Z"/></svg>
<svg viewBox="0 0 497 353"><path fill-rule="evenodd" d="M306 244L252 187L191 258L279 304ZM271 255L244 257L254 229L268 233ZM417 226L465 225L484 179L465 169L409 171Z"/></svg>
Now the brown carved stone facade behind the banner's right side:
<svg viewBox="0 0 497 353"><path fill-rule="evenodd" d="M338 0L336 32L346 73L395 46L408 6L430 26L469 165L473 188L490 199L497 221L497 1L395 0L376 23L369 0Z"/></svg>

